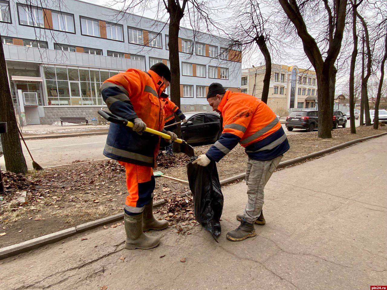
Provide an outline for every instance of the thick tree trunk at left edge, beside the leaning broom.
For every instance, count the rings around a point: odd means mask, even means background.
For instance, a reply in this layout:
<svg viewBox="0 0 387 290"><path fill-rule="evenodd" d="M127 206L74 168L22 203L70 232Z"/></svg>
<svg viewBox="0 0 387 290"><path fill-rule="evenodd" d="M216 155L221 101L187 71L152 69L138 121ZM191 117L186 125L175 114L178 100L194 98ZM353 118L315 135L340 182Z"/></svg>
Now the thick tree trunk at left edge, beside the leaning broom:
<svg viewBox="0 0 387 290"><path fill-rule="evenodd" d="M27 172L27 164L20 143L19 131L17 130L17 121L9 89L2 44L0 44L0 108L0 122L7 122L8 126L8 132L1 135L5 168L11 172L25 174Z"/></svg>

